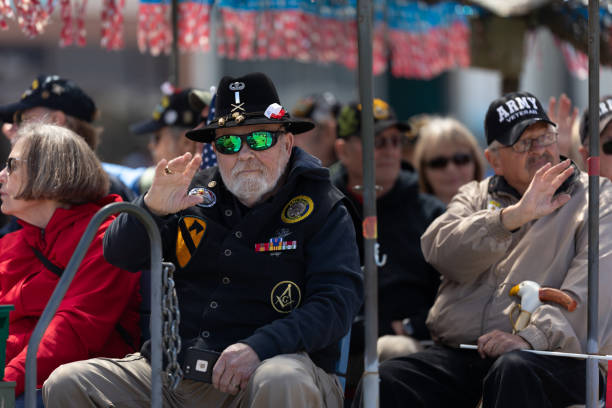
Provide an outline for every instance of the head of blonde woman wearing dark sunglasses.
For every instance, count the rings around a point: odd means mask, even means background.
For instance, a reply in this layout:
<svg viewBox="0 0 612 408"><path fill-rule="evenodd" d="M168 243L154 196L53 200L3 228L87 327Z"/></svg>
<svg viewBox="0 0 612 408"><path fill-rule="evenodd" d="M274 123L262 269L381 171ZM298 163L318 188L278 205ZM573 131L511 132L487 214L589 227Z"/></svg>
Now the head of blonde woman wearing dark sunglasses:
<svg viewBox="0 0 612 408"><path fill-rule="evenodd" d="M482 180L485 159L474 135L456 119L431 117L419 131L414 163L421 191L448 204L459 187Z"/></svg>

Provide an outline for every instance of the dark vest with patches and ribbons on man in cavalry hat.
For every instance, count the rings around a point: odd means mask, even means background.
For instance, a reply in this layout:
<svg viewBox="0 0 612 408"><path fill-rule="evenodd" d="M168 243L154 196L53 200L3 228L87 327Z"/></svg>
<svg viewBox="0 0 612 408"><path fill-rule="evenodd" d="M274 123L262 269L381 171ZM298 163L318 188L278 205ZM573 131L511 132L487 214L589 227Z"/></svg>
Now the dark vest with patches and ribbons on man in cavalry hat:
<svg viewBox="0 0 612 408"><path fill-rule="evenodd" d="M306 245L344 196L329 178L290 172L273 197L248 209L216 167L190 188L205 188L214 204L173 216L162 231L164 258L177 266L183 349L222 351L305 302ZM338 347L310 356L332 371Z"/></svg>

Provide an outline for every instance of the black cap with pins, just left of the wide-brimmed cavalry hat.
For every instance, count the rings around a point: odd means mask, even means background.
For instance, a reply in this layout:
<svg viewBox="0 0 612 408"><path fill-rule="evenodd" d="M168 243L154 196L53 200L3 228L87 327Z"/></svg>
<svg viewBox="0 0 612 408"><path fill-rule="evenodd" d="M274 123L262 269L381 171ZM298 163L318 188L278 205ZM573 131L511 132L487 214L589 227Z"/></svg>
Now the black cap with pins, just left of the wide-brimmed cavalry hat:
<svg viewBox="0 0 612 408"><path fill-rule="evenodd" d="M203 107L197 109L190 103L189 95L193 91L192 88L171 89L170 94L163 95L161 101L155 106L151 119L131 125L130 131L142 135L153 133L165 126L192 129L205 119L201 116Z"/></svg>

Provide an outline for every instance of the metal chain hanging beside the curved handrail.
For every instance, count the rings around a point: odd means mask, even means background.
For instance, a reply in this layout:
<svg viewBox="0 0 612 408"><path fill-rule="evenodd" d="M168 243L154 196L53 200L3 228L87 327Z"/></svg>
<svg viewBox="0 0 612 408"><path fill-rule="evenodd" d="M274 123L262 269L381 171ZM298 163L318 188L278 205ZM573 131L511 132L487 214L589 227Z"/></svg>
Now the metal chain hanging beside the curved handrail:
<svg viewBox="0 0 612 408"><path fill-rule="evenodd" d="M183 379L183 370L177 361L181 351L181 312L174 287L174 270L172 262L162 262L162 349L168 361L165 374L171 390L175 390Z"/></svg>

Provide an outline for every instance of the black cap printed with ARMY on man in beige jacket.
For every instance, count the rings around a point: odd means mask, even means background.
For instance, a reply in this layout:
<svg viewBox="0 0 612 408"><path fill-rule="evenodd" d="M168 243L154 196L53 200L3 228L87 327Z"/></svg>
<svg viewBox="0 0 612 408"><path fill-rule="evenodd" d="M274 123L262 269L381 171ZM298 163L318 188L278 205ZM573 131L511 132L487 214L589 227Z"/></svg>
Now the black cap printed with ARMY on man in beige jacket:
<svg viewBox="0 0 612 408"><path fill-rule="evenodd" d="M549 123L550 120L538 98L529 92L512 92L497 98L485 117L487 144L498 141L504 146L512 146L525 129L537 122Z"/></svg>

